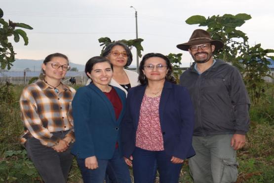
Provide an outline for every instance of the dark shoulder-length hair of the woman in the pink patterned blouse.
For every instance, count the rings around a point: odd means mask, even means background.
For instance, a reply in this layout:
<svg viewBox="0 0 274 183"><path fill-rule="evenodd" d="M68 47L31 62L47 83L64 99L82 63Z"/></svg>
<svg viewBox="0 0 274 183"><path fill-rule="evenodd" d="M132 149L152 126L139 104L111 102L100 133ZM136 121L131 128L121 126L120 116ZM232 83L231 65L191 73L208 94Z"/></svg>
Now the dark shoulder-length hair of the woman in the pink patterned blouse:
<svg viewBox="0 0 274 183"><path fill-rule="evenodd" d="M168 69L165 80L169 81L169 82L172 82L172 83L176 83L176 79L172 75L172 66L171 66L171 63L170 63L169 59L166 56L164 56L163 54L160 54L160 53L148 53L148 54L144 55L142 61L140 62L140 66L139 66L139 77L138 78L139 78L140 83L142 85L148 83L148 79L147 79L147 77L145 77L145 74L143 73L143 70L144 70L146 60L148 60L151 57L159 57L159 58L162 58L165 61L166 65L167 65L167 69Z"/></svg>

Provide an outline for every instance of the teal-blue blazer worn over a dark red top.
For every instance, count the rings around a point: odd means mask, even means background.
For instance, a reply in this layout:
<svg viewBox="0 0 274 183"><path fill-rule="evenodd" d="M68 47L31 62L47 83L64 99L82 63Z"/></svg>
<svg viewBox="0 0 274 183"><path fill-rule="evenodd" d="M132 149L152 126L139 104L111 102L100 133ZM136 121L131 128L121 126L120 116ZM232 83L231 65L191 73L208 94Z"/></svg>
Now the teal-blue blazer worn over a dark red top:
<svg viewBox="0 0 274 183"><path fill-rule="evenodd" d="M98 159L111 159L116 142L121 144L120 122L125 111L125 93L113 88L123 106L117 120L112 103L97 86L91 83L77 90L72 102L76 141L71 152L78 158L95 155Z"/></svg>

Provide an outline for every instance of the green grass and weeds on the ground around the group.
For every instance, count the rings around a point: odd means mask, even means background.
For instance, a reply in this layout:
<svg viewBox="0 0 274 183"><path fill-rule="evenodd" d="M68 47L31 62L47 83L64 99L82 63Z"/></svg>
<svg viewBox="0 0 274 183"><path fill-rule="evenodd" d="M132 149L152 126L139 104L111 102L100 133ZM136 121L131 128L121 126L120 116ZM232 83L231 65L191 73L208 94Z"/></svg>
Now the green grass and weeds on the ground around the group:
<svg viewBox="0 0 274 183"><path fill-rule="evenodd" d="M79 86L74 87L77 89ZM237 183L274 182L273 88L271 85L260 103L251 106L251 125L247 134L247 144L237 152L239 162ZM33 163L19 144L19 137L23 133L18 103L22 90L23 86L14 86L10 92L11 102L0 100L0 183L41 183ZM9 94L3 94L3 90L0 90L0 99L3 95ZM82 182L75 159L68 182ZM179 182L193 183L188 161L183 165Z"/></svg>

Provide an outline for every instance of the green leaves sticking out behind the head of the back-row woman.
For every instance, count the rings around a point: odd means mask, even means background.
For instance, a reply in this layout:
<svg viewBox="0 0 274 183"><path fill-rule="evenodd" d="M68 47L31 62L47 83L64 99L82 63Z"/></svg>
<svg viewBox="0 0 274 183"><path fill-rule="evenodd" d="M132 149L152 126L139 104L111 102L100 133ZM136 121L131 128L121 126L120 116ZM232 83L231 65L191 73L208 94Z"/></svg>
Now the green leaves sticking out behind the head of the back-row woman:
<svg viewBox="0 0 274 183"><path fill-rule="evenodd" d="M122 40L119 40L119 41L125 43L130 48L135 47L137 49L138 56L142 57L141 51L144 51L144 48L141 45L141 42L143 40L144 39L138 38L138 39L129 39L129 40L122 39ZM101 55L103 54L103 52L105 51L106 46L109 43L115 42L115 40L112 41L109 37L101 37L101 38L98 39L98 41L99 41L99 43L102 43L102 44L100 44L100 46L103 46L103 48L101 50Z"/></svg>

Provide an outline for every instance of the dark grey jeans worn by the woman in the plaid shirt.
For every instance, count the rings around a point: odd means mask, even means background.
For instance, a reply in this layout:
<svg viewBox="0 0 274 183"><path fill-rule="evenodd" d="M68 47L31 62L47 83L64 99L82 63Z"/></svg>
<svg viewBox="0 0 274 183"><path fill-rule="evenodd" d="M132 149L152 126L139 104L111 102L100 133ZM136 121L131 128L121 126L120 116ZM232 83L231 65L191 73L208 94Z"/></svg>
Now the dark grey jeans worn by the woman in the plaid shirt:
<svg viewBox="0 0 274 183"><path fill-rule="evenodd" d="M63 139L65 132L53 132L54 136ZM33 161L45 183L66 183L72 165L71 146L65 152L56 152L53 148L41 145L34 137L25 144L28 157Z"/></svg>

